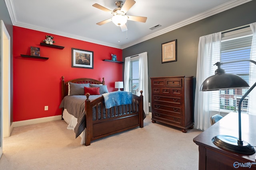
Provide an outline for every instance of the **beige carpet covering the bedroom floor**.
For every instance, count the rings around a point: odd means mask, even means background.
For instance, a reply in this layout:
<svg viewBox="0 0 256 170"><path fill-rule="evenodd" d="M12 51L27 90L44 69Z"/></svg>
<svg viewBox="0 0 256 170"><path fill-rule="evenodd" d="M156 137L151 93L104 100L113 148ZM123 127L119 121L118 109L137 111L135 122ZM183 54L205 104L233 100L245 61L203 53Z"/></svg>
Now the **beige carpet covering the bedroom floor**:
<svg viewBox="0 0 256 170"><path fill-rule="evenodd" d="M201 131L144 120L136 128L80 145L64 121L15 127L3 140L0 170L197 170Z"/></svg>

